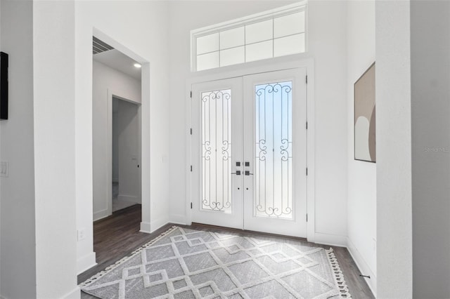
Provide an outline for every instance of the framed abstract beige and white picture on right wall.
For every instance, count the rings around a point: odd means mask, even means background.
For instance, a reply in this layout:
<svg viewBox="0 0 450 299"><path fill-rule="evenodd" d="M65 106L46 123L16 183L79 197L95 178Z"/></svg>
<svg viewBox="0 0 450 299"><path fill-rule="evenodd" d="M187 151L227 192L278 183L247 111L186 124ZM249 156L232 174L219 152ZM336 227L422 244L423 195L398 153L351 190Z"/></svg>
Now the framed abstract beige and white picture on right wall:
<svg viewBox="0 0 450 299"><path fill-rule="evenodd" d="M354 84L354 159L375 163L375 62Z"/></svg>

